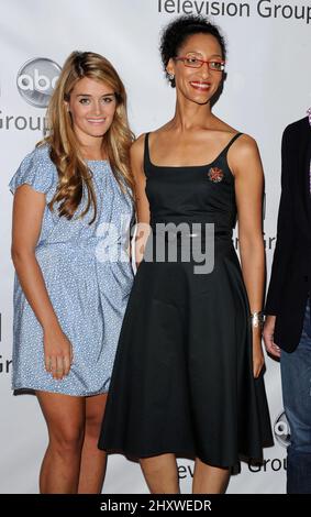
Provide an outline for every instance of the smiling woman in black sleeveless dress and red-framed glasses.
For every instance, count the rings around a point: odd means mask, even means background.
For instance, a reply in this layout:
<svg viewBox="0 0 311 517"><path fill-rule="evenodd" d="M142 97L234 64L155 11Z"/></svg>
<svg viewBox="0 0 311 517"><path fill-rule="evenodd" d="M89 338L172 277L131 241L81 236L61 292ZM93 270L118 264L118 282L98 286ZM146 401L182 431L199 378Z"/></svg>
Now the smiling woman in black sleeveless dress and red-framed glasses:
<svg viewBox="0 0 311 517"><path fill-rule="evenodd" d="M193 493L223 493L230 468L241 457L260 460L271 443L263 169L255 141L211 111L224 75L218 28L178 18L160 50L176 112L132 146L138 270L99 447L138 458L152 493L179 492L176 455L196 459Z"/></svg>

